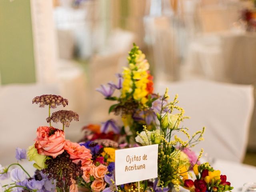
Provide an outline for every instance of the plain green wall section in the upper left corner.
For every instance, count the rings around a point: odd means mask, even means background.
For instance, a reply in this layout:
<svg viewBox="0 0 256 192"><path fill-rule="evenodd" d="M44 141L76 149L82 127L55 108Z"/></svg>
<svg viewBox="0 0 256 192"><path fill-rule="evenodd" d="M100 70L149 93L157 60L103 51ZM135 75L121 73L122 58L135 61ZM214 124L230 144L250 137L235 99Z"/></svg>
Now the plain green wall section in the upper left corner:
<svg viewBox="0 0 256 192"><path fill-rule="evenodd" d="M2 84L36 81L30 0L0 0Z"/></svg>

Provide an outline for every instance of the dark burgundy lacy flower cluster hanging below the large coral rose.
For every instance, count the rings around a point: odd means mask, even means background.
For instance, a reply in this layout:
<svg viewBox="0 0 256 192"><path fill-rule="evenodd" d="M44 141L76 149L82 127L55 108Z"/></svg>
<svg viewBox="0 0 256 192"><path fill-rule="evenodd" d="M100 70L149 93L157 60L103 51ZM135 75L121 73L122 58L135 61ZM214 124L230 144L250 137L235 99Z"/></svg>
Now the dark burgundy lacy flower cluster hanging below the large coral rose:
<svg viewBox="0 0 256 192"><path fill-rule="evenodd" d="M49 180L56 180L56 186L63 188L63 180L66 180L66 185L71 186L72 180L77 180L77 176L83 175L82 164L73 163L70 159L68 152L64 151L62 154L58 155L56 158L50 157L46 160L45 164L47 168L43 169L43 174L47 174Z"/></svg>

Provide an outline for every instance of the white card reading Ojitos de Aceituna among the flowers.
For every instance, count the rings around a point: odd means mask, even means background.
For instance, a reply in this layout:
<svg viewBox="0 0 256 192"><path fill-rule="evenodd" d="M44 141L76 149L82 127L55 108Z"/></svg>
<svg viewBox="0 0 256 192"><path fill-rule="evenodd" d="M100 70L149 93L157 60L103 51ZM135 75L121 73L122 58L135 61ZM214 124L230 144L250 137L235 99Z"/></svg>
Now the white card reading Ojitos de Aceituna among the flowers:
<svg viewBox="0 0 256 192"><path fill-rule="evenodd" d="M116 150L116 185L157 177L158 144Z"/></svg>

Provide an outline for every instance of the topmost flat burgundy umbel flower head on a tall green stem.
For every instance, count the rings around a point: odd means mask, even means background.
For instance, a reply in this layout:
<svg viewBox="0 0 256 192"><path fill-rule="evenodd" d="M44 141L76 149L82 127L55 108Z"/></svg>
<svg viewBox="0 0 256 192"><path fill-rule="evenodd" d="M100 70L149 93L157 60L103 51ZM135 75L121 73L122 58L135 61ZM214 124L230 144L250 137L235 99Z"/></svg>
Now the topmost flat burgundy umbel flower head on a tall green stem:
<svg viewBox="0 0 256 192"><path fill-rule="evenodd" d="M58 105L63 105L65 107L68 105L68 100L59 95L41 95L36 96L32 100L32 103L39 104L39 107L50 105L50 108L56 108Z"/></svg>

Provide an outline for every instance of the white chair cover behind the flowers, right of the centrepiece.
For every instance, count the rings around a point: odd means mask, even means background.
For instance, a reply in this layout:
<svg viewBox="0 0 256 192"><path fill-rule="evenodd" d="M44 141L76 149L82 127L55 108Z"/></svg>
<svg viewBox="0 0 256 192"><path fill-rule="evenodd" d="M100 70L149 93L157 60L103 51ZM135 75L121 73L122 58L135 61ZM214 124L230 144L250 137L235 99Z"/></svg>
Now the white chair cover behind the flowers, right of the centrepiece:
<svg viewBox="0 0 256 192"><path fill-rule="evenodd" d="M242 162L248 142L248 131L254 106L250 85L217 82L159 82L156 92L169 88L171 98L179 95L179 106L191 119L181 125L192 134L206 127L205 141L195 147L204 148L212 158Z"/></svg>

